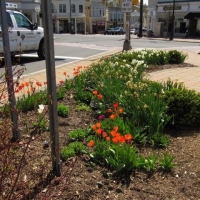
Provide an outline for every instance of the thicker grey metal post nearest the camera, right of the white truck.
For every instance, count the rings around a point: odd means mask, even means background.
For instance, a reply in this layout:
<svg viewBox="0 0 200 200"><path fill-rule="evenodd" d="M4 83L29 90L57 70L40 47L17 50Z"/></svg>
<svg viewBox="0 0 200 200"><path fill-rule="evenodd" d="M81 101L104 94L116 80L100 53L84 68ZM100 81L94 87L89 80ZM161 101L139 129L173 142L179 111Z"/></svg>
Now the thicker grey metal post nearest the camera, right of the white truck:
<svg viewBox="0 0 200 200"><path fill-rule="evenodd" d="M44 25L44 42L46 55L47 90L49 98L49 124L51 138L52 167L57 176L61 175L61 161L58 136L58 114L56 98L55 53L52 24L52 1L42 0L42 20Z"/></svg>

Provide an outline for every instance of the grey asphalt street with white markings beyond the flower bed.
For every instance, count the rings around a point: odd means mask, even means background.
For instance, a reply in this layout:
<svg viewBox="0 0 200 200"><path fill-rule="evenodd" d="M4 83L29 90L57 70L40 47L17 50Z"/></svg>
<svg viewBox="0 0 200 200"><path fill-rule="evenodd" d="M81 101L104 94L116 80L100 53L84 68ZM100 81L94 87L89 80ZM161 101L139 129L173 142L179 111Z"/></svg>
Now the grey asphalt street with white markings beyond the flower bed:
<svg viewBox="0 0 200 200"><path fill-rule="evenodd" d="M114 49L123 49L125 35L69 35L54 34L55 65L60 66L76 60L81 60ZM131 35L131 46L135 50L144 48L177 49L199 52L198 43L156 40L155 38L138 38ZM16 69L25 68L24 75L45 70L45 61L40 61L36 54L23 54ZM5 70L1 66L0 74Z"/></svg>

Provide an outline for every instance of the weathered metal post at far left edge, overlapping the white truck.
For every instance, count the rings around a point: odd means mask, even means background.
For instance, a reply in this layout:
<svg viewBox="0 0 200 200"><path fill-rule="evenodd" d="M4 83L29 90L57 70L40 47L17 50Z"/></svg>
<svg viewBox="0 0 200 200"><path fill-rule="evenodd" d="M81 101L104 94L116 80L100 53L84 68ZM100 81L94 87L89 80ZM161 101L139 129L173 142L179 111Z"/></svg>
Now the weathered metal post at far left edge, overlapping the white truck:
<svg viewBox="0 0 200 200"><path fill-rule="evenodd" d="M12 74L12 61L9 45L9 34L8 34L8 24L6 17L6 5L5 1L0 1L0 18L1 18L1 28L3 37L3 49L4 49L4 60L5 60L5 78L8 88L8 100L10 104L10 114L12 121L12 133L13 141L20 139L20 132L18 129L18 115L16 112L16 99L14 92L13 74Z"/></svg>

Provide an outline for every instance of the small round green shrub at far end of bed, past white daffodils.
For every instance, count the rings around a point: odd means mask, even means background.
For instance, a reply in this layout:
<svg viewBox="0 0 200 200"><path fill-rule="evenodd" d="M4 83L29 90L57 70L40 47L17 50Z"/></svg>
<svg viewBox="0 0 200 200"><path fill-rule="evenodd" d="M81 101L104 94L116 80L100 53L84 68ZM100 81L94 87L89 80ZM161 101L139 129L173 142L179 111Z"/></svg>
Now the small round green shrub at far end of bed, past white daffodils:
<svg viewBox="0 0 200 200"><path fill-rule="evenodd" d="M187 54L184 54L177 50L171 50L168 52L169 64L181 64L187 58Z"/></svg>

